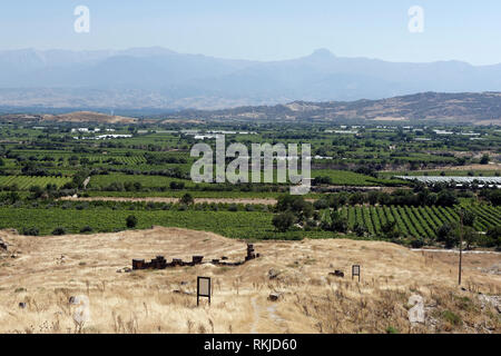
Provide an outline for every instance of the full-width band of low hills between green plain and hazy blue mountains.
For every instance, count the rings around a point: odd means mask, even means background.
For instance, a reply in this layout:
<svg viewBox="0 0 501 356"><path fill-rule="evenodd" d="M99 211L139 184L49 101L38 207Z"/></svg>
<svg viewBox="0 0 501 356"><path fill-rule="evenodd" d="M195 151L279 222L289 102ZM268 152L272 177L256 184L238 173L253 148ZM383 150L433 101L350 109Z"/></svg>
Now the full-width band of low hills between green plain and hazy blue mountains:
<svg viewBox="0 0 501 356"><path fill-rule="evenodd" d="M29 111L27 111L29 112ZM31 111L32 112L32 111ZM501 92L440 93L423 92L381 100L293 101L275 106L245 106L219 110L183 110L148 115L146 118L105 115L89 111L68 113L7 113L0 121L16 122L96 122L156 123L202 121L323 121L336 123L473 123L501 126Z"/></svg>

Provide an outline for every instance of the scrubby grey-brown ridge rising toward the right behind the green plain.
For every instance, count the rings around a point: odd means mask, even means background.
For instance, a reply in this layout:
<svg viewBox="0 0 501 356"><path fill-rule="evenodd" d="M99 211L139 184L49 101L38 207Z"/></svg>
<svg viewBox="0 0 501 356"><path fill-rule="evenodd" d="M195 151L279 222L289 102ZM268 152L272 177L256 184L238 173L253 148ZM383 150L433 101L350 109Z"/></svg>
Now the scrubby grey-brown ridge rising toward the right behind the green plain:
<svg viewBox="0 0 501 356"><path fill-rule="evenodd" d="M222 110L184 110L173 118L254 121L337 121L501 125L501 92L423 92L381 100L294 101Z"/></svg>

